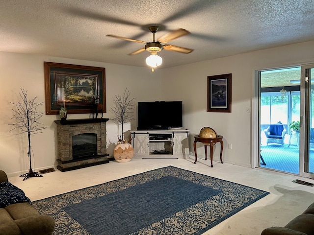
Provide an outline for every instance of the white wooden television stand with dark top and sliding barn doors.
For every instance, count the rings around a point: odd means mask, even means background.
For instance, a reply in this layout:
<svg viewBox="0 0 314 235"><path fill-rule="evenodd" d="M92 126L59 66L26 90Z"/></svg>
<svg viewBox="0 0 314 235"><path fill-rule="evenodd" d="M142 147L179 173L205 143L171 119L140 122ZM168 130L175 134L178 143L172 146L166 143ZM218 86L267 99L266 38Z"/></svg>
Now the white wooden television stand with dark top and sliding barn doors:
<svg viewBox="0 0 314 235"><path fill-rule="evenodd" d="M131 130L134 159L188 158L187 129Z"/></svg>

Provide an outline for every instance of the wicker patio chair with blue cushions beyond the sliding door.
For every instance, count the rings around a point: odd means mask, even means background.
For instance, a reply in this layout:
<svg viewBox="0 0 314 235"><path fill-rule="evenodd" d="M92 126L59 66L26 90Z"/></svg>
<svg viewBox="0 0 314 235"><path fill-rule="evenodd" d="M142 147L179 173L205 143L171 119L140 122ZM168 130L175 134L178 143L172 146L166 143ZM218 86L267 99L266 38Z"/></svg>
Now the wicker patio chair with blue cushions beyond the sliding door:
<svg viewBox="0 0 314 235"><path fill-rule="evenodd" d="M264 132L267 138L266 145L268 145L268 143L277 143L284 146L287 130L281 122L270 124Z"/></svg>

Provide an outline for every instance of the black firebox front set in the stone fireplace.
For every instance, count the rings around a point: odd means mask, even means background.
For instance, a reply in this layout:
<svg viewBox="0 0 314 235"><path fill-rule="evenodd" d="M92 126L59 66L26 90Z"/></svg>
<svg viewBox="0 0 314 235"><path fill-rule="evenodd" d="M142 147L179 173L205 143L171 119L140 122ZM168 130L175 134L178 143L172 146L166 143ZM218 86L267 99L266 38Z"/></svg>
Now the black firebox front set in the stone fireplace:
<svg viewBox="0 0 314 235"><path fill-rule="evenodd" d="M72 137L72 158L97 156L97 134L85 133Z"/></svg>

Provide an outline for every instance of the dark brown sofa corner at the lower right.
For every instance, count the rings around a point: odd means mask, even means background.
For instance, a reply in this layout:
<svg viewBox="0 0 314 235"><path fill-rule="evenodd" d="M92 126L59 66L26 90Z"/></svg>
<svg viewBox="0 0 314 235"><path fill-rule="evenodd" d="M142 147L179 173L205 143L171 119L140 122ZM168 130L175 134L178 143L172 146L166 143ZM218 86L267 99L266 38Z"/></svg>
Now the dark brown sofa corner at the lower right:
<svg viewBox="0 0 314 235"><path fill-rule="evenodd" d="M314 235L314 203L285 227L264 229L262 235Z"/></svg>

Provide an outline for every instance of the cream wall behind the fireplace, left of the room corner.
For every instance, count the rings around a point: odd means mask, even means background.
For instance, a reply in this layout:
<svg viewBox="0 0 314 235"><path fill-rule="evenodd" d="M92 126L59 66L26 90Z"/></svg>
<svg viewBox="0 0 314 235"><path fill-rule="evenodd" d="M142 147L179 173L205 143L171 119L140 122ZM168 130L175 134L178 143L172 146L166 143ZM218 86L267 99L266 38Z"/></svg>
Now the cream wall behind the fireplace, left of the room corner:
<svg viewBox="0 0 314 235"><path fill-rule="evenodd" d="M17 95L19 95L20 88L27 90L28 98L37 96L36 102L45 101L44 61L104 67L107 101L107 112L104 114L104 118L112 118L110 112L112 97L115 94L123 94L125 88L128 88L132 97L136 97L135 104L137 101L146 100L147 97L161 98L161 94L157 92L161 87L158 71L152 73L148 68L0 52L0 169L9 176L25 173L29 168L27 135L17 135L18 131L10 131L14 126L7 125L13 122L11 118L14 105L10 102L18 100ZM45 112L45 105L40 106L39 111ZM134 111L136 112L136 109ZM90 118L90 115L68 115L68 119L77 118ZM31 147L34 151L33 169L45 169L56 165L56 124L54 120L59 120L58 115L44 114L40 122L48 128L41 134L31 136ZM132 128L136 128L136 122L132 123ZM124 129L130 129L130 123ZM117 125L109 120L107 122L107 153L110 155L112 155L118 135Z"/></svg>

